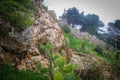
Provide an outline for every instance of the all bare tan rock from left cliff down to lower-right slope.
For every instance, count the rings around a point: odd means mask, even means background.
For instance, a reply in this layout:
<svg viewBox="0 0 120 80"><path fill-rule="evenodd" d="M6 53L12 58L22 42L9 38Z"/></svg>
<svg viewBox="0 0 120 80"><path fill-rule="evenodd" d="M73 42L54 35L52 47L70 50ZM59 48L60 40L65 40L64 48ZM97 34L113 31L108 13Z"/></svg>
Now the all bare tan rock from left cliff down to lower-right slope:
<svg viewBox="0 0 120 80"><path fill-rule="evenodd" d="M69 44L69 40L64 38L58 23L53 17L46 10L42 9L37 2L33 1L33 4L37 8L37 14L31 16L31 19L34 20L34 25L31 25L22 32L13 33L11 31L6 34L6 36L0 35L1 65L12 63L19 69L33 70L36 68L37 63L41 62L44 67L47 67L48 59L44 52L39 50L38 47L40 44L50 42L54 45L54 49L51 51L59 51L60 54L66 57L68 63L71 62L77 64L77 71L80 74L83 73L83 76L94 73L94 66L92 67L92 65L100 62L102 65L95 67L95 71L102 70L102 74L105 73L106 80L111 78L112 71L109 71L111 68L105 60L101 60L94 55L78 55L74 53L69 49L67 45ZM0 28L6 26L12 27L8 22L5 22L0 18ZM90 73L89 71L91 70L93 72ZM112 78L117 80L114 76L112 76ZM94 80L97 80L97 77Z"/></svg>

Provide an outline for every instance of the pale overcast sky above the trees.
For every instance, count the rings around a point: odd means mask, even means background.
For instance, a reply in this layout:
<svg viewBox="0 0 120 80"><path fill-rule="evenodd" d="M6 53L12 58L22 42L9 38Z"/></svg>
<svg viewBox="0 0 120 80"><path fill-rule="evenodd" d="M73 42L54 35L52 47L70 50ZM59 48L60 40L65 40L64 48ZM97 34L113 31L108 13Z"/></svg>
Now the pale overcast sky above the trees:
<svg viewBox="0 0 120 80"><path fill-rule="evenodd" d="M99 15L104 23L120 19L120 0L44 0L44 3L49 10L55 10L57 17L64 9L76 7L85 14Z"/></svg>

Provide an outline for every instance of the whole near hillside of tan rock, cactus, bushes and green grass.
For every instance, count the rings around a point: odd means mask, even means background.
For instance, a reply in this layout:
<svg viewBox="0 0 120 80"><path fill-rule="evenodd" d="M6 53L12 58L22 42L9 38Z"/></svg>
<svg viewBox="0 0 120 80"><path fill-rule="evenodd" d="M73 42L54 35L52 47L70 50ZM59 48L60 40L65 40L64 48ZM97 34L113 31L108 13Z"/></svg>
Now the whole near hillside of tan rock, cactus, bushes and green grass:
<svg viewBox="0 0 120 80"><path fill-rule="evenodd" d="M39 0L1 0L0 80L119 80L110 51L62 29Z"/></svg>

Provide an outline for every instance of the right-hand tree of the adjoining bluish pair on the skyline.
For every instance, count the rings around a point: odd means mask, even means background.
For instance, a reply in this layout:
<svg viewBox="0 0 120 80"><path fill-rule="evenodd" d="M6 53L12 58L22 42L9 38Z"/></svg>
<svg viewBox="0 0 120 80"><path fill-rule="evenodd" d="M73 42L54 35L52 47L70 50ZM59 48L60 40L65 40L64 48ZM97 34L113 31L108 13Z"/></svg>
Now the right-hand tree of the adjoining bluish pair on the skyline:
<svg viewBox="0 0 120 80"><path fill-rule="evenodd" d="M82 25L81 31L86 31L92 35L97 34L98 27L104 26L103 22L99 20L99 16L95 14L86 15Z"/></svg>

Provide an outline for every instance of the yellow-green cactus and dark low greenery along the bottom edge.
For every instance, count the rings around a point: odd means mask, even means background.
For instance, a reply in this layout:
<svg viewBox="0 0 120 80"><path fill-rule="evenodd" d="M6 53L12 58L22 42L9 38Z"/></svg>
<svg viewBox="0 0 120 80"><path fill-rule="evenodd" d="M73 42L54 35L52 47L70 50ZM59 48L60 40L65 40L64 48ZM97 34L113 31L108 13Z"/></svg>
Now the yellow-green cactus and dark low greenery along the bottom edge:
<svg viewBox="0 0 120 80"><path fill-rule="evenodd" d="M45 51L48 57L48 68L37 64L33 71L18 70L12 65L0 67L0 80L81 80L80 76L75 74L76 65L67 64L64 57L60 54L51 54L52 45L48 42L46 45L40 45L40 49Z"/></svg>

